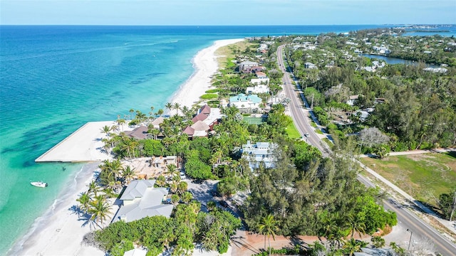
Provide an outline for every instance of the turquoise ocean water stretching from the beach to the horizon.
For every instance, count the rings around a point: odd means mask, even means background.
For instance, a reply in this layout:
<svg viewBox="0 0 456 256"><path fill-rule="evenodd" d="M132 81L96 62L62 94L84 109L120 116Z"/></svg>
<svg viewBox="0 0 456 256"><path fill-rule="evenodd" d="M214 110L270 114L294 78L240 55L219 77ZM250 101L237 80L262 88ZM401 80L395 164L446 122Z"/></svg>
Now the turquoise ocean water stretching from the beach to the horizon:
<svg viewBox="0 0 456 256"><path fill-rule="evenodd" d="M163 108L199 50L219 39L376 27L0 26L0 255L52 219L87 168L34 159L86 122ZM41 180L49 186L29 183Z"/></svg>

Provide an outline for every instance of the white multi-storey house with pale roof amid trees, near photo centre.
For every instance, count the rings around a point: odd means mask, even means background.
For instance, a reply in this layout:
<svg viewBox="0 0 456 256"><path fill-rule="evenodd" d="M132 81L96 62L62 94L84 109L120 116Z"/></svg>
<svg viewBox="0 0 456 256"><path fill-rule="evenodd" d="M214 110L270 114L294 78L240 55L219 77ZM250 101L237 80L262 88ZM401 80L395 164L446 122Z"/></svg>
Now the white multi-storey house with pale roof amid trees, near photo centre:
<svg viewBox="0 0 456 256"><path fill-rule="evenodd" d="M270 168L274 166L274 151L275 145L269 142L257 142L255 144L247 141L247 144L242 145L242 158L249 161L250 169L259 167L259 163L264 163L264 167Z"/></svg>

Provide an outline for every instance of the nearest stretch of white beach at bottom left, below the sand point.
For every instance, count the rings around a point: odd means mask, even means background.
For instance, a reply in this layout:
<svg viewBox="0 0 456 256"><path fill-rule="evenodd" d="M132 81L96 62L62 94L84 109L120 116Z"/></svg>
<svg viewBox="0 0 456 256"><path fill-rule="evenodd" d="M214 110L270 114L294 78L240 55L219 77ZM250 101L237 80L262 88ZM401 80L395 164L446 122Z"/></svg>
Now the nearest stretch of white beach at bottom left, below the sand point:
<svg viewBox="0 0 456 256"><path fill-rule="evenodd" d="M95 247L80 245L83 236L90 232L90 225L83 226L84 220L72 210L72 207L77 205L78 195L87 191L87 184L96 178L98 164L99 162L84 164L76 171L75 176L66 184L70 189L62 191L56 197L52 206L33 221L31 228L16 240L6 255L75 255L81 250L90 250L86 255L102 255L96 254L99 250ZM80 242L76 243L79 238ZM62 242L59 243L59 240ZM78 250L66 252L68 249L74 250L75 246L79 247Z"/></svg>

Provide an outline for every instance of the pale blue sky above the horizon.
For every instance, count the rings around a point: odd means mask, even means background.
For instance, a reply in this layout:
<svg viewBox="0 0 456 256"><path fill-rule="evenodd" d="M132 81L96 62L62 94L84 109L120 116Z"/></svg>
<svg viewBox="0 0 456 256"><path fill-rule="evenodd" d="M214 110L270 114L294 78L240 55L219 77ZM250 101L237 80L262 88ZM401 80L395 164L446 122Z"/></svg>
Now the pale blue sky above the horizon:
<svg viewBox="0 0 456 256"><path fill-rule="evenodd" d="M456 0L0 0L1 25L442 23Z"/></svg>

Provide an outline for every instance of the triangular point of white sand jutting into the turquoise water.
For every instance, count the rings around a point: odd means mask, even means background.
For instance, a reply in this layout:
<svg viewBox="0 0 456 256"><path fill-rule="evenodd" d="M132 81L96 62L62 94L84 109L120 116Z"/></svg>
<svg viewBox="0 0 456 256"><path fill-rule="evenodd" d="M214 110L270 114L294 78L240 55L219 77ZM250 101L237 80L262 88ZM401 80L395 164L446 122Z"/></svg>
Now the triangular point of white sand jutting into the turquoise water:
<svg viewBox="0 0 456 256"><path fill-rule="evenodd" d="M101 139L106 137L106 134L101 132L101 129L105 125L112 127L116 124L113 121L88 122L35 161L78 162L111 159L110 155L102 151L104 143Z"/></svg>

